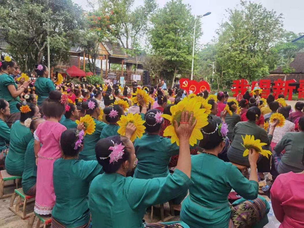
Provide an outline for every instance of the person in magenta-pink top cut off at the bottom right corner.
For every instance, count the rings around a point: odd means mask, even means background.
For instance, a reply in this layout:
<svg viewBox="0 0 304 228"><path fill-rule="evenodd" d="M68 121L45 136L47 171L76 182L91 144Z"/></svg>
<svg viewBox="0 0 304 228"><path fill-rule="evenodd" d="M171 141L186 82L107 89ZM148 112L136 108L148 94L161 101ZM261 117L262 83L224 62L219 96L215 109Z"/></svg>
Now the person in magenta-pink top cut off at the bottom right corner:
<svg viewBox="0 0 304 228"><path fill-rule="evenodd" d="M304 163L304 160L302 161ZM304 227L304 171L278 175L271 186L271 204L280 228Z"/></svg>

